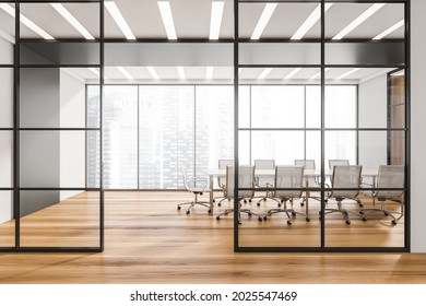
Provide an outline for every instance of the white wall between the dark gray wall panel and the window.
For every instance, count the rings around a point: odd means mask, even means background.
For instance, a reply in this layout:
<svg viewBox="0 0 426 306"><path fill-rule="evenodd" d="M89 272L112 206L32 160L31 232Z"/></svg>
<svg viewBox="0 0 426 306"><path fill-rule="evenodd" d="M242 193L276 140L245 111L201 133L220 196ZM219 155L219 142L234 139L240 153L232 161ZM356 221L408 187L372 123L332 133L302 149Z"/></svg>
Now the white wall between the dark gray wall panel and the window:
<svg viewBox="0 0 426 306"><path fill-rule="evenodd" d="M60 127L85 127L85 84L64 70L60 73ZM85 132L61 131L60 187L85 187ZM61 191L60 199L81 191Z"/></svg>

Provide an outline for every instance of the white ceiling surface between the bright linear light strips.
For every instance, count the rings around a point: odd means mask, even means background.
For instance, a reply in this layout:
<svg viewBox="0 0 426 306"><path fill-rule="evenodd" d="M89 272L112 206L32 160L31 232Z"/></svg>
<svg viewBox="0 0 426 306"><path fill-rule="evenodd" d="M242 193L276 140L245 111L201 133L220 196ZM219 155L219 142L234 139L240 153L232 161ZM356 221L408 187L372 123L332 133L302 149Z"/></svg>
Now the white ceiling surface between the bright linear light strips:
<svg viewBox="0 0 426 306"><path fill-rule="evenodd" d="M130 28L139 39L167 39L162 16L156 0L116 0L115 1ZM224 0L224 14L220 38L234 37L233 0ZM210 13L212 0L179 0L170 1L171 13L178 38L209 38ZM63 3L71 14L94 36L99 37L99 12L97 3ZM250 38L253 28L263 11L264 3L241 3L239 7L239 36ZM271 20L267 24L261 38L291 38L318 4L316 3L279 3ZM367 10L370 3L334 3L326 13L326 37L332 38L353 20ZM12 5L13 7L13 5ZM402 3L388 3L362 25L351 32L345 38L370 39L384 30L404 19ZM83 38L48 3L21 3L21 12L55 38ZM14 20L0 10L0 35L14 36ZM24 38L40 38L35 32L21 25L21 36ZM120 28L108 12L105 12L105 37L125 38ZM404 27L391 33L386 38L403 38ZM320 23L317 22L304 38L320 38ZM151 74L143 67L127 67L129 73L137 80L150 80ZM176 67L156 67L159 79L179 80ZM205 79L205 67L185 67L187 80ZM281 80L293 69L273 69L265 80ZM350 69L346 69L348 71ZM348 75L347 80L362 80L368 73L377 73L377 69L362 69ZM244 69L242 80L256 80L262 69ZM301 69L292 80L307 80L318 72L317 69ZM327 79L332 80L344 71L332 69ZM93 72L75 69L74 73L82 79L93 79ZM333 74L335 73L335 75ZM116 68L106 68L105 75L110 80L126 80ZM233 79L230 67L215 67L214 80ZM285 79L284 79L285 80ZM285 82L285 81L283 81Z"/></svg>

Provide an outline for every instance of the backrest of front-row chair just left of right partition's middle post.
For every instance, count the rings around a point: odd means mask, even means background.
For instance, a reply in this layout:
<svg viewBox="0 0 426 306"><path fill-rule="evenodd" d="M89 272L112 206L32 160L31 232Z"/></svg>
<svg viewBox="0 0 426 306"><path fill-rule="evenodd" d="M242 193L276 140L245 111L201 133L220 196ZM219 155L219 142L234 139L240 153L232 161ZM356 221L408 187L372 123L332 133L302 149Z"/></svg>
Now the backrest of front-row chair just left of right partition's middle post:
<svg viewBox="0 0 426 306"><path fill-rule="evenodd" d="M279 198L299 198L304 181L304 166L276 166L275 188L298 188L299 190L275 190Z"/></svg>

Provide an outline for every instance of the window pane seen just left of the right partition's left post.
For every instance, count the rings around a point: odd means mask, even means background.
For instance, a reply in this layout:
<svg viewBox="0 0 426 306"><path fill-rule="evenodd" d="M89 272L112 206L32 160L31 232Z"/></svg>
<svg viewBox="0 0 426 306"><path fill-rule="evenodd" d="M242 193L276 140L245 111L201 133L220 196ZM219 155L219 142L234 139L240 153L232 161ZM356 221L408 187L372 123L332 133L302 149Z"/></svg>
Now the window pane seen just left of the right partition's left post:
<svg viewBox="0 0 426 306"><path fill-rule="evenodd" d="M234 158L234 87L197 86L196 101L196 173L205 176Z"/></svg>

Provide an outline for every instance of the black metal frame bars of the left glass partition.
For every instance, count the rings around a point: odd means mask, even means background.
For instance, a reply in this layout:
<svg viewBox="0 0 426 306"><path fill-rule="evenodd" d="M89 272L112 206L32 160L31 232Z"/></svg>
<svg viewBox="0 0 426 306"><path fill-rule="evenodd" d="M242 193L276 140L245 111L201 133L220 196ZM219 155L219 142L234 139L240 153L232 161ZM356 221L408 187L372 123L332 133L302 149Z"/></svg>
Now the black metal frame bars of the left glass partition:
<svg viewBox="0 0 426 306"><path fill-rule="evenodd" d="M50 2L67 2L67 1L50 1ZM100 133L100 150L102 150L102 139L103 139L103 126L102 126L102 114L100 115L100 126L99 128L21 128L20 120L20 80L21 80L21 69L22 68L91 68L96 67L99 68L100 71L100 91L103 87L103 75L104 75L104 0L90 0L90 1L69 1L69 2L80 2L80 3L98 3L99 5L99 26L100 26L100 39L91 40L90 43L98 43L100 57L98 64L21 64L21 44L27 40L37 40L37 39L26 39L21 38L21 4L22 3L47 3L46 1L24 1L24 0L15 0L10 1L15 5L15 43L13 49L13 64L10 66L1 66L1 67L10 67L13 68L13 128L8 129L13 131L13 186L9 188L9 190L13 191L13 217L15 221L15 231L14 231L14 247L0 247L0 251L13 251L13 252L38 252L38 251L56 251L56 252L94 252L94 251L103 251L104 250L104 189L103 189L103 175L100 174L100 188L87 188L86 183L84 187L78 188L31 188L31 187L21 187L21 161L20 161L20 139L21 132L23 131L99 131ZM49 44L51 42L46 42L43 39L38 39L39 42L44 42ZM64 39L67 40L67 39ZM80 42L86 42L80 39ZM100 96L102 102L102 96ZM102 107L102 103L100 103ZM102 113L102 108L100 108ZM87 121L86 121L87 122ZM1 129L4 130L4 129ZM102 154L100 154L102 155ZM100 156L100 170L102 170L102 156ZM85 190L85 191L99 191L99 246L94 247L25 247L21 246L21 191L43 191L43 190L51 190L51 191L61 191L61 190Z"/></svg>

